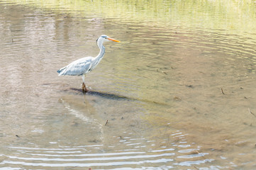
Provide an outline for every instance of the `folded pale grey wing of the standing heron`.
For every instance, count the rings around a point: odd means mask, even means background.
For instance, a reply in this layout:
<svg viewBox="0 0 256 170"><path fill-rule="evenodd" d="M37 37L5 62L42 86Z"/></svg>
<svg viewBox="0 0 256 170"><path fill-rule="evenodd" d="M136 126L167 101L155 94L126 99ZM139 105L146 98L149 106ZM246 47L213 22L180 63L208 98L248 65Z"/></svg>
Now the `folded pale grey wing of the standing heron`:
<svg viewBox="0 0 256 170"><path fill-rule="evenodd" d="M91 69L91 62L89 61L75 61L68 64L66 67L59 69L57 72L59 76L69 75L69 76L80 76L82 74L86 74Z"/></svg>

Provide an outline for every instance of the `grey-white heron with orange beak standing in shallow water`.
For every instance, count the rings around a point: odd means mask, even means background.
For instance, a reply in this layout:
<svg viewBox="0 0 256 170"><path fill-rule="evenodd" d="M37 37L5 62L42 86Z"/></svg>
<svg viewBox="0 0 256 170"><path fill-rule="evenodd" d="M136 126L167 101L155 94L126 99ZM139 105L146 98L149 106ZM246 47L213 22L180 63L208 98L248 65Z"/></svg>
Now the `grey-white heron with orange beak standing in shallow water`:
<svg viewBox="0 0 256 170"><path fill-rule="evenodd" d="M103 46L103 43L108 41L120 42L118 40L108 37L107 35L101 35L96 40L96 43L100 50L99 55L97 55L96 57L84 57L68 64L66 67L57 70L59 76L82 76L82 91L87 92L88 89L85 86L85 74L91 72L102 60L105 55L105 47Z"/></svg>

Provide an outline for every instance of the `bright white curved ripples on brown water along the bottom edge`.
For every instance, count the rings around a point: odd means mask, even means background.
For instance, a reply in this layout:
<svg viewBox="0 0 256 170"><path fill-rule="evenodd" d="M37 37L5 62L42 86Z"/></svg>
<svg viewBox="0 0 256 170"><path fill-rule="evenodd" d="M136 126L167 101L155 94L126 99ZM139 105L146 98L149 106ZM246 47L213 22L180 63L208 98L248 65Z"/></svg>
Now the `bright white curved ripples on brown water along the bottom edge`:
<svg viewBox="0 0 256 170"><path fill-rule="evenodd" d="M124 133L126 134L126 132ZM173 132L169 137L187 142L186 134L183 135L180 131ZM112 140L119 138L113 136ZM107 150L104 151L104 145L59 146L53 148L6 146L3 149L7 149L9 152L0 155L0 158L3 159L0 166L12 168L18 165L28 169L34 169L35 166L43 169L50 167L125 169L126 166L131 167L133 165L140 166L141 169L159 169L159 167L173 169L175 166L199 165L213 161L213 159L206 158L206 155L209 156L208 153L200 153L199 147L192 148L191 145L177 145L180 141L174 141L176 142L160 142L147 140L144 137L135 139L127 135L122 137L118 144L126 149L118 149L117 147L120 146L113 145L108 147L110 148L108 152ZM157 143L160 143L161 146L155 147ZM57 145L57 142L51 142L51 144ZM179 149L184 147L188 149ZM175 159L178 159L179 163L174 162Z"/></svg>

